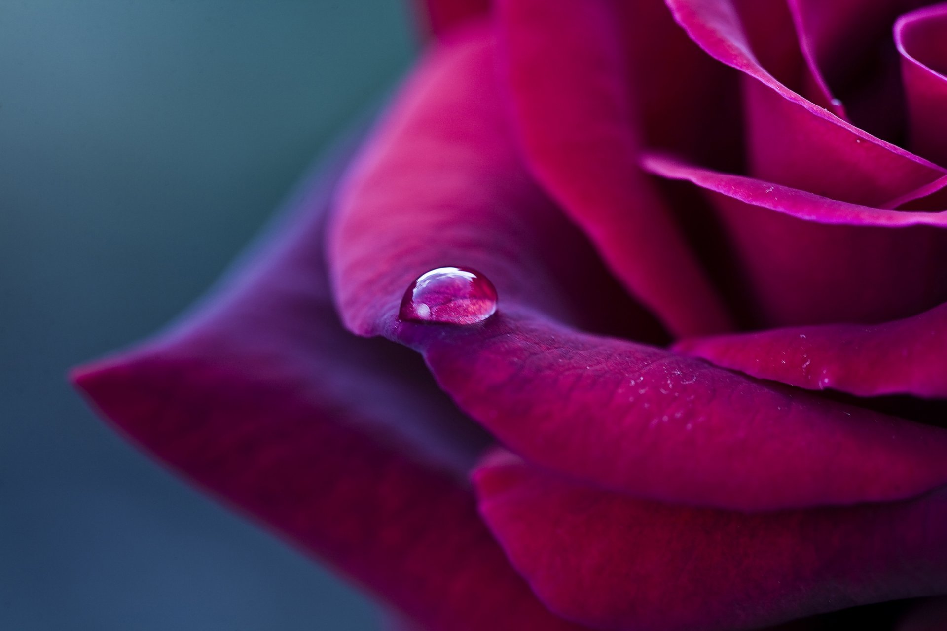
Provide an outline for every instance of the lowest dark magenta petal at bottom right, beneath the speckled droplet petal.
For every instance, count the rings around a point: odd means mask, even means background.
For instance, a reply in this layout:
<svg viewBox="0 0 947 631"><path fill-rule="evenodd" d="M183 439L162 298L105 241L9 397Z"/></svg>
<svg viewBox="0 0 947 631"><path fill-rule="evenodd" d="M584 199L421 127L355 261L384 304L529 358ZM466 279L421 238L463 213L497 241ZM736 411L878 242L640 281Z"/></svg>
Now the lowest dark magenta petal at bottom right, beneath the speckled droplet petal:
<svg viewBox="0 0 947 631"><path fill-rule="evenodd" d="M947 589L947 492L747 515L608 493L493 456L480 512L536 594L601 629L731 631Z"/></svg>

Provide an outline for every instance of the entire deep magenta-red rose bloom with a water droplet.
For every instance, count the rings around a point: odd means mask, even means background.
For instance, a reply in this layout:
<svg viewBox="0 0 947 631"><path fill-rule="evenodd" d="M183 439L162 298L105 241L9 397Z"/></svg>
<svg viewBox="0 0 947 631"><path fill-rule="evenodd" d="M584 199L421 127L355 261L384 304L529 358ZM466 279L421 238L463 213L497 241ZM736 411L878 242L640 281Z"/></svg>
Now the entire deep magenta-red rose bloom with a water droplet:
<svg viewBox="0 0 947 631"><path fill-rule="evenodd" d="M947 5L431 4L354 159L80 388L421 628L947 594Z"/></svg>

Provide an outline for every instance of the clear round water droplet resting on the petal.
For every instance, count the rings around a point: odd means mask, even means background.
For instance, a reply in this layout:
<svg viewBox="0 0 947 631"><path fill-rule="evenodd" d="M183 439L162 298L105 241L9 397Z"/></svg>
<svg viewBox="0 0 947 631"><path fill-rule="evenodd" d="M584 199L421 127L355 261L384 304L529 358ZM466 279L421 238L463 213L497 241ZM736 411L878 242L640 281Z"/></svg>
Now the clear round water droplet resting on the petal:
<svg viewBox="0 0 947 631"><path fill-rule="evenodd" d="M496 311L496 289L470 268L438 268L422 273L402 298L398 317L421 323L476 324Z"/></svg>

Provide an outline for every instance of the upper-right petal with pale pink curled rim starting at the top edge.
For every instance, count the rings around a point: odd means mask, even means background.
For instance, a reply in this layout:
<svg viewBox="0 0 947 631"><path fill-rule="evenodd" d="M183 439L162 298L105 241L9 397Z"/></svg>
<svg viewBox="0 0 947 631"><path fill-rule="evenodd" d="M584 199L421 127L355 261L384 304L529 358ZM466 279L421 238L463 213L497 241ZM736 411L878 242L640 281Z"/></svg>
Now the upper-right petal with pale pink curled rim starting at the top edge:
<svg viewBox="0 0 947 631"><path fill-rule="evenodd" d="M846 202L878 204L944 174L779 83L754 55L731 0L667 2L694 42L746 75L754 176Z"/></svg>

